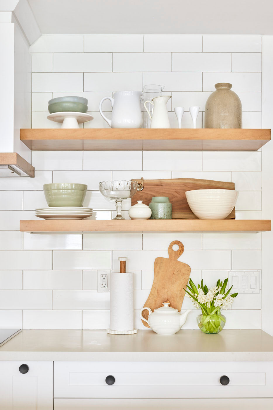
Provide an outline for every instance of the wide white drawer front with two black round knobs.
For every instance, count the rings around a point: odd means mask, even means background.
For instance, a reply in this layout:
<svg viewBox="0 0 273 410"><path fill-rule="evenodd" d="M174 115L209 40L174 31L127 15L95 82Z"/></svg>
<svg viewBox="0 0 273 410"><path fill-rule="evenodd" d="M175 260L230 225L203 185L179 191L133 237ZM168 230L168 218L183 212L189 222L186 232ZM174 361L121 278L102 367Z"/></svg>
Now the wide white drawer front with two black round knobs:
<svg viewBox="0 0 273 410"><path fill-rule="evenodd" d="M273 397L273 363L54 362L56 398L227 396Z"/></svg>

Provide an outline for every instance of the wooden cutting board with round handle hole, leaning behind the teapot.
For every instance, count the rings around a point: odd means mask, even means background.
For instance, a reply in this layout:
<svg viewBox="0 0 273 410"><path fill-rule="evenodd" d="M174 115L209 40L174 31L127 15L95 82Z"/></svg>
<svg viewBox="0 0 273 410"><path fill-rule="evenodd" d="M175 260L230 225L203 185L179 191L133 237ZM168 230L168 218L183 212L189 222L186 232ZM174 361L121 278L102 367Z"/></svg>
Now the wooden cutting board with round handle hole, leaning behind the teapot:
<svg viewBox="0 0 273 410"><path fill-rule="evenodd" d="M178 245L178 251L173 250L173 245ZM184 252L184 245L180 241L171 242L169 257L157 257L154 263L154 278L151 292L143 307L149 307L152 312L162 303L169 301L171 307L180 312L185 295L191 268L189 265L179 262L178 257ZM143 310L142 316L148 319L148 310ZM144 326L149 328L148 323L142 320Z"/></svg>

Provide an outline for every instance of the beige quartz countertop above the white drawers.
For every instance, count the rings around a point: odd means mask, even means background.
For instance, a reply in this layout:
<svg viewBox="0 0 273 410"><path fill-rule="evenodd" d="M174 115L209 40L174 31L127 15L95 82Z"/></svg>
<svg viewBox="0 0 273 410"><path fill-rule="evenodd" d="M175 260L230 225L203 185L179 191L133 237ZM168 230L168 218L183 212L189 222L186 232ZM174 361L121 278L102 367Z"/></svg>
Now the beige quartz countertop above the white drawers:
<svg viewBox="0 0 273 410"><path fill-rule="evenodd" d="M108 335L106 330L23 330L0 347L0 360L273 361L273 337L262 330L205 335Z"/></svg>

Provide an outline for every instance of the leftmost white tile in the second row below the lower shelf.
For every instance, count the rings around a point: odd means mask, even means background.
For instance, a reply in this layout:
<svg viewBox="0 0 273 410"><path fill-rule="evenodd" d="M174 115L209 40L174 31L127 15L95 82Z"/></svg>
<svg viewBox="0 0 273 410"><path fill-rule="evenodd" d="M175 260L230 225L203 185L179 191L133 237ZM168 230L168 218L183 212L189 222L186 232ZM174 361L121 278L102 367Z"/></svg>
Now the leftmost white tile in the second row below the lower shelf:
<svg viewBox="0 0 273 410"><path fill-rule="evenodd" d="M52 252L50 251L0 251L0 260L2 269L52 268Z"/></svg>

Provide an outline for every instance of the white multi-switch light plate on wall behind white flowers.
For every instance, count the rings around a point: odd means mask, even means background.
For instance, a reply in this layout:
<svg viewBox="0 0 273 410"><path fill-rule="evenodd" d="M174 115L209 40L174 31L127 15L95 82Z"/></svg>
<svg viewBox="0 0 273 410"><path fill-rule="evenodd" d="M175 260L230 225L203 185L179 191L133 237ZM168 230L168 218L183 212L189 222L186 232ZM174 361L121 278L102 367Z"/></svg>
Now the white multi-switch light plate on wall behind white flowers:
<svg viewBox="0 0 273 410"><path fill-rule="evenodd" d="M228 271L228 289L231 293L259 293L261 271Z"/></svg>

